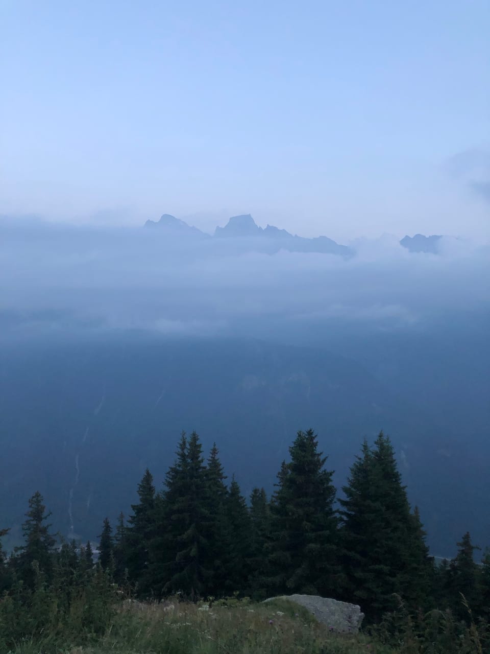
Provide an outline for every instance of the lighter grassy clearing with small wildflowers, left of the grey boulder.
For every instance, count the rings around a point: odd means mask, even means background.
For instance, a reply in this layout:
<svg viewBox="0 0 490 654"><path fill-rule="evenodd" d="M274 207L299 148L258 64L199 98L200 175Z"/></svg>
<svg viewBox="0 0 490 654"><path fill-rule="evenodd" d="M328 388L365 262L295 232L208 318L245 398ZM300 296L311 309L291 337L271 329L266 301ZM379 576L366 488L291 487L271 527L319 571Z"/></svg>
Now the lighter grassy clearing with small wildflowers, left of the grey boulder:
<svg viewBox="0 0 490 654"><path fill-rule="evenodd" d="M70 645L26 640L12 654L392 654L366 636L335 634L287 601L123 602L102 637Z"/></svg>

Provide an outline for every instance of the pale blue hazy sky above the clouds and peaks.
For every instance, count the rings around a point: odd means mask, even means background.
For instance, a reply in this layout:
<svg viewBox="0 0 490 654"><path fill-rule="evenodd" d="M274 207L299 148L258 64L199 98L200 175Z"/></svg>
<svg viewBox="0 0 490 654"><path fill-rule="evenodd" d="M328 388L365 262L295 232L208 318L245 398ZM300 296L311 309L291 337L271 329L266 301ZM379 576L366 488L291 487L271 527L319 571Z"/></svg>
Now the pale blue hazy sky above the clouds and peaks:
<svg viewBox="0 0 490 654"><path fill-rule="evenodd" d="M0 0L0 214L487 237L487 0Z"/></svg>

